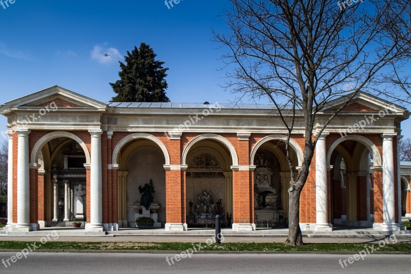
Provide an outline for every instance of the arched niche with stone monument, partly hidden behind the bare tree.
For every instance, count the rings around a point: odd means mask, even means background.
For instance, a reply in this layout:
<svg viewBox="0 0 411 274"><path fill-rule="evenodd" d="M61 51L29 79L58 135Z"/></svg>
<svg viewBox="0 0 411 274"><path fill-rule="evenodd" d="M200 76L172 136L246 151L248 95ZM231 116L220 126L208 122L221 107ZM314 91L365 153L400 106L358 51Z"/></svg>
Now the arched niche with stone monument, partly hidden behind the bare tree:
<svg viewBox="0 0 411 274"><path fill-rule="evenodd" d="M297 167L298 155L293 149L290 150L290 156L294 167ZM286 159L285 142L271 139L259 143L252 160L256 167L253 173L256 228L288 227L291 172Z"/></svg>

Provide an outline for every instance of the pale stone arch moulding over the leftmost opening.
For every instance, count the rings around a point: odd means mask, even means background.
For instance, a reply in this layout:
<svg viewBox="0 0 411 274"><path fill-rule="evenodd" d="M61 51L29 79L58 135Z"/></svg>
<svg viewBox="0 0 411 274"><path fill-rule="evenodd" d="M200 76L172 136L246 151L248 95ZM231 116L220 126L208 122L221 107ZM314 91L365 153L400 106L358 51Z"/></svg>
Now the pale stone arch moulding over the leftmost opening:
<svg viewBox="0 0 411 274"><path fill-rule="evenodd" d="M46 143L48 143L49 141L51 141L52 139L55 138L61 138L61 137L65 137L65 138L70 138L73 139L74 141L78 142L81 146L81 148L84 151L84 154L86 156L86 164L89 165L90 164L90 152L88 151L87 145L84 143L84 141L82 139L80 139L80 137L78 137L77 135L74 135L72 133L69 132L65 132L65 131L56 131L56 132L51 132L48 133L46 135L44 135L43 137L41 137L34 145L33 150L31 151L31 158L30 158L30 163L36 163L39 155L41 153L42 148L44 147L44 145Z"/></svg>

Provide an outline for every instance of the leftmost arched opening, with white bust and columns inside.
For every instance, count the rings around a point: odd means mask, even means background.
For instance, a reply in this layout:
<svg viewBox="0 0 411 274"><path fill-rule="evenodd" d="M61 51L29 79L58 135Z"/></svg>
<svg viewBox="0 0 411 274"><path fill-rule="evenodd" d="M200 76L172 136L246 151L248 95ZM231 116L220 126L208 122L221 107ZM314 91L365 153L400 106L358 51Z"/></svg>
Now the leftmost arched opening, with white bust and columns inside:
<svg viewBox="0 0 411 274"><path fill-rule="evenodd" d="M70 138L73 137L73 138ZM69 133L46 135L35 144L31 161L39 164L40 227L73 227L87 222L89 160L84 142Z"/></svg>

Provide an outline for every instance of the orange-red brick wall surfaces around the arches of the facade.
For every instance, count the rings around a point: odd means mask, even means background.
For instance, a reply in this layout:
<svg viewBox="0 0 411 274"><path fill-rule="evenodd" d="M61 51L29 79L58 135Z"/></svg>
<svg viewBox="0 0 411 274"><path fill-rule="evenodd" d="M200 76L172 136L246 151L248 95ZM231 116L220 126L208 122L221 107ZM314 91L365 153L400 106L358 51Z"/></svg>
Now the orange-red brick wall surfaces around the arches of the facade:
<svg viewBox="0 0 411 274"><path fill-rule="evenodd" d="M50 131L32 131L29 135L29 151L31 153L35 143L45 134ZM81 138L87 145L90 152L90 134L86 131L75 131L71 132ZM107 139L107 133L104 132L102 135L102 166L103 166L103 222L104 223L116 223L118 221L117 216L117 171L107 170L107 165L112 162L111 155L113 150L120 140L132 133L126 132L116 132L113 135L113 139ZM186 147L188 142L194 137L200 135L195 133L183 134L181 140L171 140L164 136L163 133L150 133L157 137L166 146L167 151L170 154L171 165L180 165L181 163L181 153ZM240 166L248 166L250 159L249 155L255 144L264 138L265 134L252 134L250 140L238 140L236 134L221 134L222 137L229 140L234 146ZM376 144L377 148L382 155L382 139L378 134L374 135L363 135L370 139ZM331 134L326 138L327 153L331 144L340 138L339 134ZM304 137L302 135L293 135L292 138L300 145L304 150ZM16 178L17 178L17 147L18 147L17 133L13 133L13 222L17 222L17 188L16 188ZM222 144L221 144L222 145ZM395 149L395 166L396 161L396 138L393 143ZM295 163L296 165L296 163ZM90 172L86 172L87 179L87 201L90 200ZM396 172L397 176L397 172ZM331 204L334 207L334 214L341 215L342 209L337 207L337 199L342 199L338 196L341 194L339 191L339 182L335 182L334 189L334 199L331 200L331 175L328 172L328 218L331 222ZM396 177L397 178L397 177ZM376 223L382 222L382 173L381 171L375 171L375 218ZM288 188L288 186L285 186ZM166 222L167 223L184 223L186 215L185 207L185 172L184 171L166 171ZM397 184L396 184L397 188ZM358 178L358 220L366 220L366 188L365 188L365 177ZM45 218L45 182L44 176L39 176L37 170L30 170L30 220L31 222L36 222L36 220L42 220ZM397 193L397 192L396 192ZM254 190L253 190L253 173L249 171L235 171L233 172L233 209L234 216L233 221L235 223L253 223L254 220ZM409 196L409 195L408 195ZM397 195L395 197L397 199ZM411 199L408 199L408 206L411 203ZM396 203L397 205L397 203ZM410 207L410 206L409 206ZM396 209L396 212L398 209ZM339 212L340 211L340 212ZM372 212L371 212L372 213ZM364 215L365 214L365 215ZM339 216L334 215L334 218ZM86 217L89 221L90 216L90 206L87 203ZM380 220L380 221L379 221ZM300 222L301 223L315 223L315 154L312 159L310 174L307 179L306 185L301 194L301 204L300 204Z"/></svg>

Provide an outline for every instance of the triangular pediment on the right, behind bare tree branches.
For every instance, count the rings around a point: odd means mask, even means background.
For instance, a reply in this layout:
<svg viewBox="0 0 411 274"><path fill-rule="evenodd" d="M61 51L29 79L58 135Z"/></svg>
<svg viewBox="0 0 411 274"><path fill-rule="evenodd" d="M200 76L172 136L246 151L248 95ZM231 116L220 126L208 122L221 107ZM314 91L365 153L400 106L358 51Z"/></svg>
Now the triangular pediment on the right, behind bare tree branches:
<svg viewBox="0 0 411 274"><path fill-rule="evenodd" d="M335 111L345 104L351 95L340 97L328 102L328 107L324 111ZM387 109L391 113L404 113L406 109L402 106L393 104L379 97L359 92L342 109L342 112L378 112Z"/></svg>

